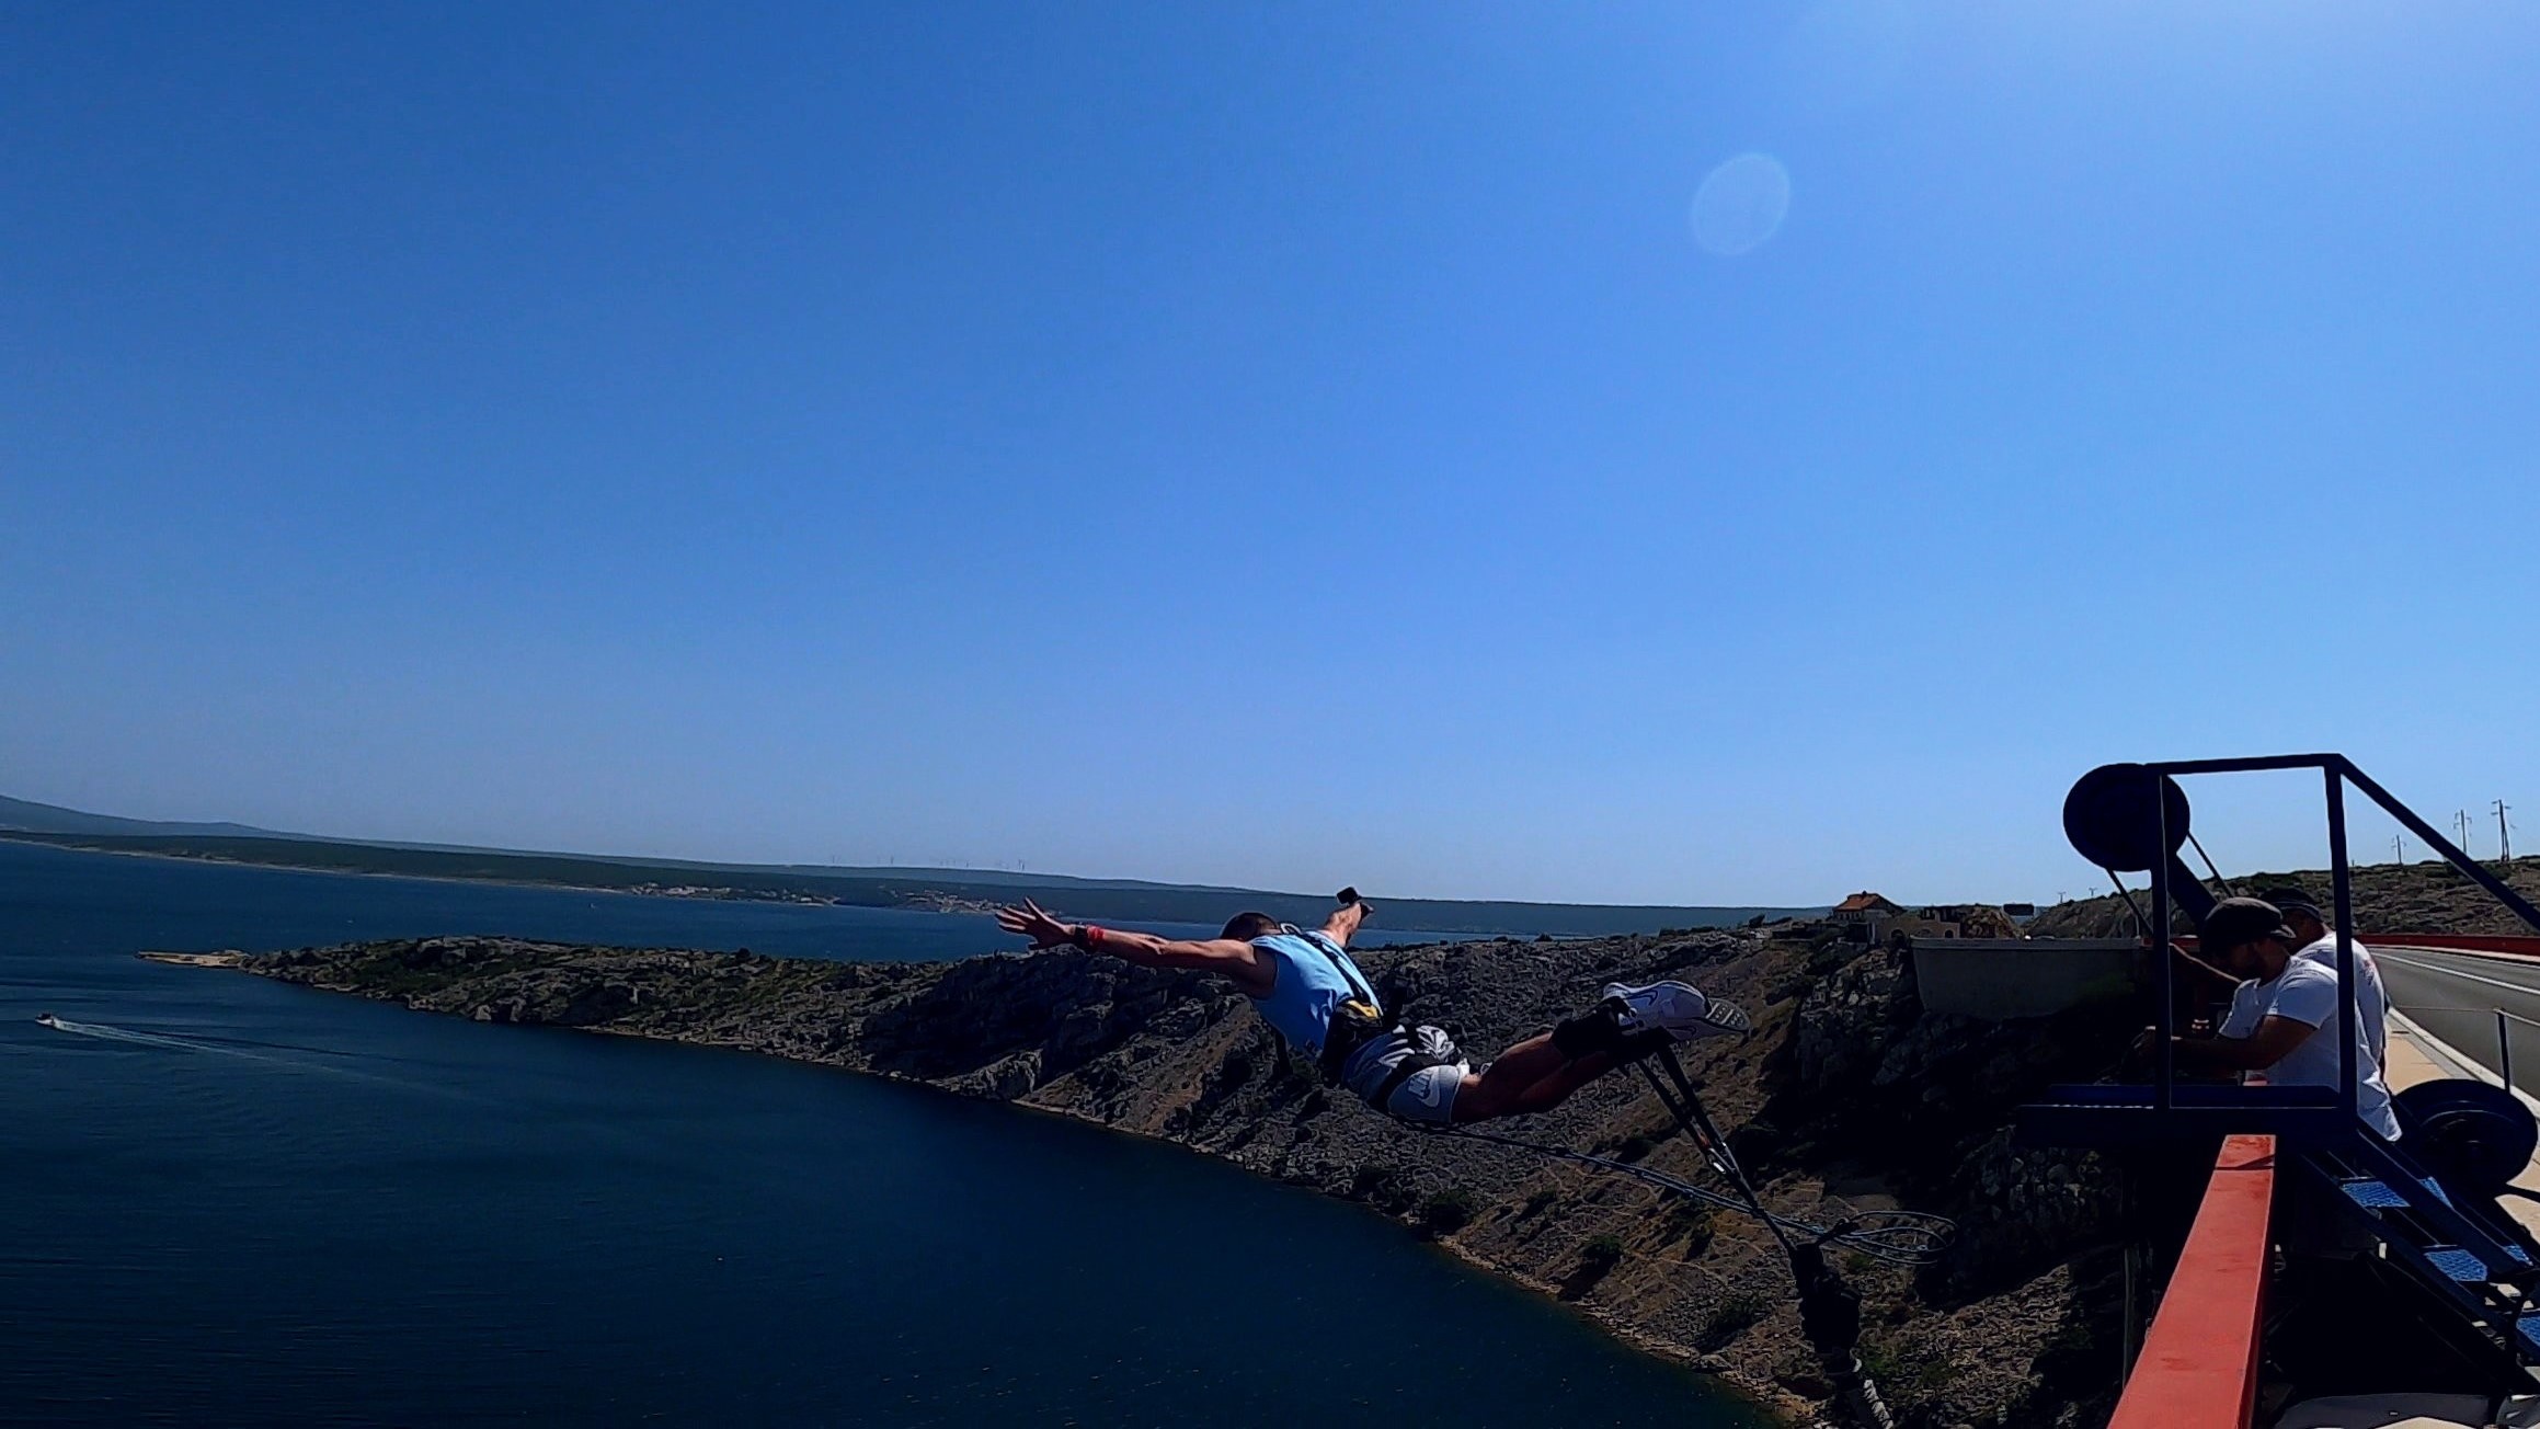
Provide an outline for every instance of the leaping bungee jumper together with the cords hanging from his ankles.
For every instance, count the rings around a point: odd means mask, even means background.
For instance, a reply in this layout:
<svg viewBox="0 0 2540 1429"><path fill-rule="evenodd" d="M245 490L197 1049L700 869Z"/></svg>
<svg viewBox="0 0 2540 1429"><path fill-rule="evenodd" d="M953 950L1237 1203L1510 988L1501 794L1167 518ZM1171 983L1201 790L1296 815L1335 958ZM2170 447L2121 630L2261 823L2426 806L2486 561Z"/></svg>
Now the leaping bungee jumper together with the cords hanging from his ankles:
<svg viewBox="0 0 2540 1429"><path fill-rule="evenodd" d="M1755 1025L1745 1010L1709 998L1689 982L1669 980L1638 987L1608 982L1588 1013L1554 1023L1549 1033L1519 1041L1473 1071L1443 1028L1405 1025L1384 1010L1374 985L1349 957L1349 939L1374 909L1359 899L1356 888L1341 888L1339 904L1313 932L1280 924L1270 914L1234 914L1214 939L1166 939L1095 924L1062 924L1029 899L1021 906L1001 909L996 921L1011 934L1029 937L1034 949L1080 947L1138 967L1224 975L1252 1000L1285 1046L1308 1058L1328 1081L1422 1132L1481 1140L1631 1175L1664 1193L1753 1216L1791 1261L1801 1330L1836 1386L1844 1416L1867 1429L1895 1429L1877 1383L1854 1353L1862 1330L1859 1294L1826 1264L1826 1246L1890 1264L1930 1264L1956 1236L1956 1226L1920 1211L1867 1211L1834 1226L1819 1226L1765 1208L1674 1051L1679 1043L1699 1038L1750 1036ZM1709 1168L1732 1190L1478 1127L1478 1122L1549 1112L1580 1086L1623 1066L1636 1066L1648 1079L1676 1129L1702 1150Z"/></svg>

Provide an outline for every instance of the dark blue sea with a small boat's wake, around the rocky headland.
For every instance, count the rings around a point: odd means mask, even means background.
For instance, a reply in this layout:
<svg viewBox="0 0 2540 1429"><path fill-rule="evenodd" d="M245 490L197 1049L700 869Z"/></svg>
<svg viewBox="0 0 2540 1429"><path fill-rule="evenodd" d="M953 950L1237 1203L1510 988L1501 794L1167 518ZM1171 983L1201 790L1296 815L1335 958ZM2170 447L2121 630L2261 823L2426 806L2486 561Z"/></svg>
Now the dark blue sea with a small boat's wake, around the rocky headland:
<svg viewBox="0 0 2540 1429"><path fill-rule="evenodd" d="M1003 944L973 916L0 843L0 1421L1755 1424L1377 1216L1176 1147L132 957L437 932Z"/></svg>

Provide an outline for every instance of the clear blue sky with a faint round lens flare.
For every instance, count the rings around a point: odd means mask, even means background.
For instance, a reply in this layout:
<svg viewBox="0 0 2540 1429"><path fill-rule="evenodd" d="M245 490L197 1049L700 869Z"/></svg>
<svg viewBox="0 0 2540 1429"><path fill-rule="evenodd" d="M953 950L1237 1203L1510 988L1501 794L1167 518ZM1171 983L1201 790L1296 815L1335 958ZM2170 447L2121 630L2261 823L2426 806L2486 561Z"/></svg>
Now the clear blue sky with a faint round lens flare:
<svg viewBox="0 0 2540 1429"><path fill-rule="evenodd" d="M2080 893L2108 759L2540 815L2532 74L2466 3L8 5L0 792L1714 904Z"/></svg>

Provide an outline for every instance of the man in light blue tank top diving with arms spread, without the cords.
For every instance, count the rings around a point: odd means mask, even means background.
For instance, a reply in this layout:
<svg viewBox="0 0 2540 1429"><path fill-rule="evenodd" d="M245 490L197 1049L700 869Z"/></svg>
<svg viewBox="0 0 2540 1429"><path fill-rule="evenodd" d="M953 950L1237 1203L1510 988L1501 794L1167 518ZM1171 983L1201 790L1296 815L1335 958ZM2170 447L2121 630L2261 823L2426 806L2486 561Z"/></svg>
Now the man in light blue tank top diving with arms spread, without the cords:
<svg viewBox="0 0 2540 1429"><path fill-rule="evenodd" d="M1598 1076L1651 1051L1704 1036L1753 1031L1735 1003L1704 998L1687 982L1626 987L1608 982L1603 1000L1577 1018L1532 1036L1473 1071L1438 1028L1389 1018L1374 985L1349 957L1349 939L1369 906L1356 888L1318 932L1300 932L1270 914L1234 914L1212 939L1166 939L1092 924L1062 924L1029 899L1001 909L998 926L1041 947L1082 947L1138 967L1219 972L1326 1076L1369 1107L1407 1122L1488 1122L1544 1112Z"/></svg>

